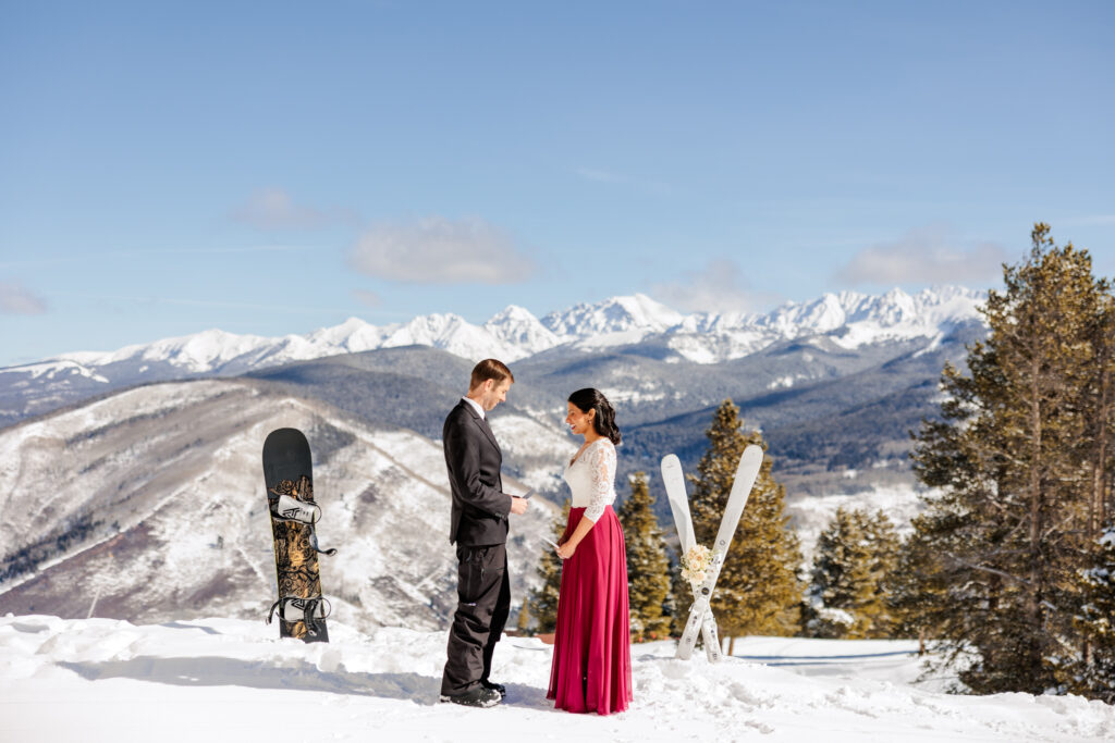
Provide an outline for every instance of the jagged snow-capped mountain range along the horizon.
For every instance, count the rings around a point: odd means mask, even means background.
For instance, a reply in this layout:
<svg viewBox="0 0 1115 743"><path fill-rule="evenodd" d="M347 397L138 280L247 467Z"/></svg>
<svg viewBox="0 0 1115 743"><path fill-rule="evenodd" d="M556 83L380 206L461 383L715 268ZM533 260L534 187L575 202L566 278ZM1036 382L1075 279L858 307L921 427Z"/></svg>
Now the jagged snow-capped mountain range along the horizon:
<svg viewBox="0 0 1115 743"><path fill-rule="evenodd" d="M475 325L454 314L372 325L351 317L306 335L263 338L207 330L112 352L75 352L0 369L0 426L112 389L234 375L293 361L376 349L426 345L464 359L507 362L554 351L592 352L643 344L660 358L701 364L740 359L782 341L824 336L840 348L924 338L932 342L958 323L979 317L981 292L943 286L908 294L825 294L766 314L682 314L636 294L579 304L541 319L508 306Z"/></svg>

